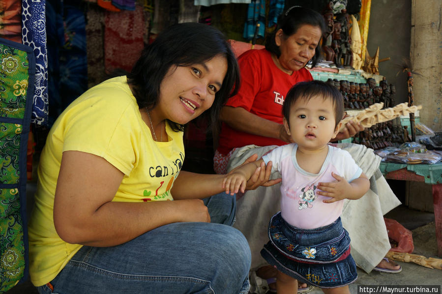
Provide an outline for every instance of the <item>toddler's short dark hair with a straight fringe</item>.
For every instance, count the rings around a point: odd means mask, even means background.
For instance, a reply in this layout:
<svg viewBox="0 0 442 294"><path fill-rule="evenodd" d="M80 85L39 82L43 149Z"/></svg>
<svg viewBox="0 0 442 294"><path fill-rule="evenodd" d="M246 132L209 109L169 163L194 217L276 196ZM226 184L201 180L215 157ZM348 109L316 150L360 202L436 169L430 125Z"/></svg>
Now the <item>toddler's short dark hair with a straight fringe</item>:
<svg viewBox="0 0 442 294"><path fill-rule="evenodd" d="M293 86L284 99L282 115L287 119L287 122L289 122L292 105L294 105L298 99L309 101L314 96L322 96L324 97L324 100L332 100L336 127L344 115L344 98L338 89L321 81L301 82Z"/></svg>

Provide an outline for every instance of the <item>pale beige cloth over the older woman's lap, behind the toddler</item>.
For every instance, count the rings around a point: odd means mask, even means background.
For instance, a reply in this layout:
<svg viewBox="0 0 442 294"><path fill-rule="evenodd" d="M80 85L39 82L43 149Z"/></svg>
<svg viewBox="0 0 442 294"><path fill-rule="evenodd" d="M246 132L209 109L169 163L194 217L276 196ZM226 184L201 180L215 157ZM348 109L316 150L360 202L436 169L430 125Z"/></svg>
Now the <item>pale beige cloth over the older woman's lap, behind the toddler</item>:
<svg viewBox="0 0 442 294"><path fill-rule="evenodd" d="M358 200L345 200L342 223L351 238L351 253L356 264L366 272L378 265L390 249L383 214L400 205L400 201L379 171L381 158L373 149L357 144L337 144L336 147L350 152L365 175L370 178L370 190ZM261 158L276 146L258 147L248 145L237 148L230 158L227 170L231 171L246 158L257 153ZM281 175L272 173L270 178ZM260 251L268 241L267 227L270 217L280 210L280 184L258 187L247 191L237 200L236 223L249 242L252 251L251 271L263 265Z"/></svg>

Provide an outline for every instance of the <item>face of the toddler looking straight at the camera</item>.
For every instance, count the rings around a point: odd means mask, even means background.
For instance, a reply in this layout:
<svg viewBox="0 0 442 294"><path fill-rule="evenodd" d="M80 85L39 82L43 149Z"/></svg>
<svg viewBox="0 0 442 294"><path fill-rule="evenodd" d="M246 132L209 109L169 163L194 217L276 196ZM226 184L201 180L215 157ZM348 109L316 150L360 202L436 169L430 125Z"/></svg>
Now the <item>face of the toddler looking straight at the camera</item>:
<svg viewBox="0 0 442 294"><path fill-rule="evenodd" d="M290 122L284 119L289 136L305 150L321 150L336 137L335 111L330 98L314 96L309 101L298 99L290 109Z"/></svg>

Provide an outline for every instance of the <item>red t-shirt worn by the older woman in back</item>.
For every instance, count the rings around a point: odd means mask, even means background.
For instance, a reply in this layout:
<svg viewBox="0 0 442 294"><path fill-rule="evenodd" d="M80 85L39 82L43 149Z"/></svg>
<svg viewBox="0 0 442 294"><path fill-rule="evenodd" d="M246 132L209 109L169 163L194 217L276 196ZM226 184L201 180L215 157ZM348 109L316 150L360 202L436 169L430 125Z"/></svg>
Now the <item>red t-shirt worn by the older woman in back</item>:
<svg viewBox="0 0 442 294"><path fill-rule="evenodd" d="M241 72L241 88L226 105L242 107L261 118L282 124L284 96L298 82L312 81L313 77L304 67L288 75L276 67L270 52L265 49L249 50L238 58ZM284 141L252 135L235 130L222 123L218 151L229 153L235 147L254 144L257 146L285 145Z"/></svg>

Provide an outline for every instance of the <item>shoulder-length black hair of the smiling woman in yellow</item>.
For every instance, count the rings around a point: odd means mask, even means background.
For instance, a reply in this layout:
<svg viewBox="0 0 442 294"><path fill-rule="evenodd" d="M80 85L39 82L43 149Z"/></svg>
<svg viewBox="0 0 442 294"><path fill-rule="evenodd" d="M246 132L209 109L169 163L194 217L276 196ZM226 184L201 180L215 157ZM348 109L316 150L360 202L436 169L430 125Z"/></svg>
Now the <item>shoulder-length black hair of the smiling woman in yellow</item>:
<svg viewBox="0 0 442 294"><path fill-rule="evenodd" d="M227 73L222 87L216 92L209 109L210 125L217 128L221 107L239 89L239 67L236 57L224 35L213 27L199 23L173 25L158 35L145 47L135 63L128 83L133 86L134 96L140 108L154 108L160 96L160 85L172 66L188 66L203 63L217 55L227 60ZM183 131L184 126L168 120L174 131Z"/></svg>

